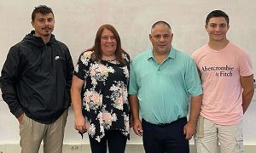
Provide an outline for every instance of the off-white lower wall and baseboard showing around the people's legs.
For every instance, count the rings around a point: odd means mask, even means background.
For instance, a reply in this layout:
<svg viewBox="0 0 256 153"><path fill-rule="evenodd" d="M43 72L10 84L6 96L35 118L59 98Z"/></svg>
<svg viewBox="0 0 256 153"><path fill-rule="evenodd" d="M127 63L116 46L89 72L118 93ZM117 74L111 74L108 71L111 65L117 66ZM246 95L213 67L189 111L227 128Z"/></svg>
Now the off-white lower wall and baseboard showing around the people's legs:
<svg viewBox="0 0 256 153"><path fill-rule="evenodd" d="M13 153L20 151L20 136L19 136L19 124L9 113L9 108L4 102L0 101L0 152L3 153ZM247 110L244 116L243 124L243 135L245 144L245 153L253 153L256 150L256 95L253 97L253 102ZM65 131L64 138L64 153L82 153L90 152L89 139L87 134L84 134L84 139L81 139L79 133L73 128L73 110L69 110L69 116L67 117L67 127ZM82 145L81 145L82 144ZM126 152L127 153L139 153L143 152L142 138L137 137L133 132L131 132L131 140L127 143ZM193 146L194 140L190 140L190 152L195 153L195 148ZM75 147L78 149L75 151ZM42 148L41 148L42 149ZM43 150L41 150L43 153ZM1 152L2 153L2 152ZM41 152L40 152L41 153Z"/></svg>

